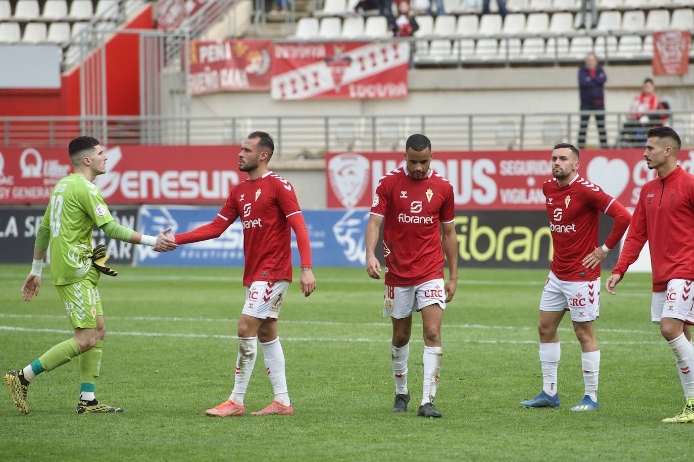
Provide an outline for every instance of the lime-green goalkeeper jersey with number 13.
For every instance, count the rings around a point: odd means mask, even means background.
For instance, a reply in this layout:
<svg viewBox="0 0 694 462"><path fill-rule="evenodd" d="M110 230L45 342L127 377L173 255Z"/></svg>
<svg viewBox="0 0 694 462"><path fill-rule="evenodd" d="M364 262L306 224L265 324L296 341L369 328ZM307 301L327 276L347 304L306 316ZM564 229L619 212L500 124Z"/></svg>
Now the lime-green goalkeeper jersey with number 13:
<svg viewBox="0 0 694 462"><path fill-rule="evenodd" d="M53 284L71 284L87 275L92 267L94 224L111 221L101 191L92 181L79 173L58 181L40 226L50 236Z"/></svg>

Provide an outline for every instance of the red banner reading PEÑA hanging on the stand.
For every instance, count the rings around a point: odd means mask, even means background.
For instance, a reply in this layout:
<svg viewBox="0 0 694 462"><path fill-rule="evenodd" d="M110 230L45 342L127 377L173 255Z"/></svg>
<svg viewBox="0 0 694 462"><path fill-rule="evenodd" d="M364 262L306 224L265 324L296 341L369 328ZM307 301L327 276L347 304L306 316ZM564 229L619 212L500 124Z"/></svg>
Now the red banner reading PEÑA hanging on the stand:
<svg viewBox="0 0 694 462"><path fill-rule="evenodd" d="M190 42L190 93L270 89L272 40Z"/></svg>

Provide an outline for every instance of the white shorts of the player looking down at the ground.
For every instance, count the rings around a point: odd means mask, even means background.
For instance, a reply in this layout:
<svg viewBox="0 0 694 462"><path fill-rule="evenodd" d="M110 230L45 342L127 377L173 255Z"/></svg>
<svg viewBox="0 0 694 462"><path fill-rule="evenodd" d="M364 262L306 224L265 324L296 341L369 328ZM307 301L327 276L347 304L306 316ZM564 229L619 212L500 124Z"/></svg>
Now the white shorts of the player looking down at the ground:
<svg viewBox="0 0 694 462"><path fill-rule="evenodd" d="M446 310L446 289L443 279L433 279L418 285L393 287L386 285L384 293L383 316L403 319L412 316L429 305L439 305Z"/></svg>

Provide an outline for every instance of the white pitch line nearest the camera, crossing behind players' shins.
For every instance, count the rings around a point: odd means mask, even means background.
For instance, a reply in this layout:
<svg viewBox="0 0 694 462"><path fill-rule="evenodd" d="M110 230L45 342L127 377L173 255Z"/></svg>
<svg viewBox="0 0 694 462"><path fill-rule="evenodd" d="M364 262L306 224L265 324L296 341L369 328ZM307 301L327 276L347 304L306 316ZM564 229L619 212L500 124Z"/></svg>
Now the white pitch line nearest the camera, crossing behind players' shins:
<svg viewBox="0 0 694 462"><path fill-rule="evenodd" d="M55 334L72 334L71 330L62 329L39 329L39 328L23 328L15 326L0 326L0 330L10 330L14 332L47 332ZM126 332L119 330L110 330L108 335L124 335L130 337L174 337L174 338L190 338L190 339L226 339L234 340L239 337L235 335L220 335L220 334L192 334L187 332ZM320 338L320 337L281 337L285 341L328 341L328 342L349 342L349 343L386 343L390 342L390 339L330 339L330 338ZM414 343L423 343L423 340L412 339L410 340ZM537 344L536 340L489 340L489 339L465 339L465 340L446 340L446 343L454 344ZM577 344L576 340L564 341L563 343ZM607 345L660 345L662 341L600 341L600 344Z"/></svg>

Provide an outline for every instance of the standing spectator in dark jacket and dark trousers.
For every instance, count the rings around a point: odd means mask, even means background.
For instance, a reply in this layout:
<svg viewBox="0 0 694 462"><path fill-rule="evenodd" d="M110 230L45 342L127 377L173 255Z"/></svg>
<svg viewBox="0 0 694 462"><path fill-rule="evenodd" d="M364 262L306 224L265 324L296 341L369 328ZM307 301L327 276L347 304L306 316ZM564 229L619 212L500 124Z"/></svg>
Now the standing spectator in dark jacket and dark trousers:
<svg viewBox="0 0 694 462"><path fill-rule="evenodd" d="M598 125L600 133L600 148L607 148L607 133L605 132L605 97L602 86L607 80L607 74L598 65L595 53L586 55L585 65L578 70L578 87L581 96L582 111L602 111L595 115L595 125ZM586 144L586 130L590 121L590 114L581 114L581 127L578 131L578 147L584 148Z"/></svg>

